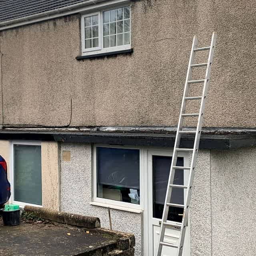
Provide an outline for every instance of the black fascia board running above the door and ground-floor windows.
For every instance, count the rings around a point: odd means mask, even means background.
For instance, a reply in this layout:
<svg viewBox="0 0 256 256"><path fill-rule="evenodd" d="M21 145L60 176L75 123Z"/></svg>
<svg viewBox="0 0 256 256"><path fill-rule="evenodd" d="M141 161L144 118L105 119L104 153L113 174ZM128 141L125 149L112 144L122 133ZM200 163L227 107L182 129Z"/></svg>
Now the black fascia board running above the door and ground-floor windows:
<svg viewBox="0 0 256 256"><path fill-rule="evenodd" d="M101 143L110 145L133 145L173 147L176 134L132 132L70 132L40 130L1 130L1 140L47 140L57 142ZM192 136L181 139L181 147L191 148ZM256 133L249 134L204 134L200 149L228 150L256 146Z"/></svg>

